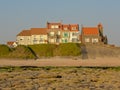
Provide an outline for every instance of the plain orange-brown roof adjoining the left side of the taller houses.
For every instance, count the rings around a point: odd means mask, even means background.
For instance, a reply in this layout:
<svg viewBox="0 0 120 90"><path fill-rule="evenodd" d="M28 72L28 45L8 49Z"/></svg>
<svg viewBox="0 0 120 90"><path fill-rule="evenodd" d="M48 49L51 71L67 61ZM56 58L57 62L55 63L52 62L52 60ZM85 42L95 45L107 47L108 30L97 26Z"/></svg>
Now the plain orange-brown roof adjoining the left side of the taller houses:
<svg viewBox="0 0 120 90"><path fill-rule="evenodd" d="M47 28L31 28L32 35L47 34Z"/></svg>

